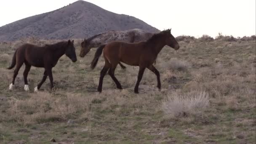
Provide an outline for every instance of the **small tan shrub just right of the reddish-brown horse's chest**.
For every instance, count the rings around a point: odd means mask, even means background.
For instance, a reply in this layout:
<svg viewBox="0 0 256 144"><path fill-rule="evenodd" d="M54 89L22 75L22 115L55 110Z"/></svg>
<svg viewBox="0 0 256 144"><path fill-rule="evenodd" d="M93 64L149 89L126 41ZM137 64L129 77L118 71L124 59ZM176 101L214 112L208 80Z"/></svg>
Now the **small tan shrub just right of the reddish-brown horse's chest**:
<svg viewBox="0 0 256 144"><path fill-rule="evenodd" d="M190 67L190 64L187 61L181 61L176 58L170 59L168 62L170 64L170 68L177 71L187 71Z"/></svg>

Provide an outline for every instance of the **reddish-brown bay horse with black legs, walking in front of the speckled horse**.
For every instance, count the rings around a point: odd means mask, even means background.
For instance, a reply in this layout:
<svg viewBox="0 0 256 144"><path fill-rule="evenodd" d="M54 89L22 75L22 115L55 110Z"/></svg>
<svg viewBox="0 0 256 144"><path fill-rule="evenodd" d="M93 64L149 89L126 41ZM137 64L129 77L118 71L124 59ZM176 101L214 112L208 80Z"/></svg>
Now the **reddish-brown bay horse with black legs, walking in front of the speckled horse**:
<svg viewBox="0 0 256 144"><path fill-rule="evenodd" d="M153 63L157 57L157 54L165 45L168 45L175 50L179 49L179 43L177 43L171 34L171 29L154 34L147 41L139 43L114 41L107 43L106 45L101 45L96 50L94 59L91 62L91 68L94 69L103 51L105 64L100 72L97 91L102 91L103 78L108 70L108 74L115 82L117 88L122 89L121 84L115 77L115 68L120 61L131 66L139 66L138 79L134 88L135 93L139 93L139 83L146 68L155 73L157 76L157 88L161 89L160 73L153 66Z"/></svg>

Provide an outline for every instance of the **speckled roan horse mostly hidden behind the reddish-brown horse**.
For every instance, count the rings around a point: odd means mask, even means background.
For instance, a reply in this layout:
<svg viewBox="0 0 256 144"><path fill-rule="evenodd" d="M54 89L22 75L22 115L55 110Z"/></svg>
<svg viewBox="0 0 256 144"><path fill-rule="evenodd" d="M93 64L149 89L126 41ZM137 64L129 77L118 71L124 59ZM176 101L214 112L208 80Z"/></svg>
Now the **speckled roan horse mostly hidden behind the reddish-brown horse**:
<svg viewBox="0 0 256 144"><path fill-rule="evenodd" d="M142 29L129 29L124 31L111 30L98 35L94 35L88 39L84 39L81 43L80 57L84 57L91 48L99 47L103 44L112 42L112 41L123 41L127 43L136 43L139 41L145 41L152 37L153 33L145 32ZM125 66L119 63L122 69L125 69Z"/></svg>

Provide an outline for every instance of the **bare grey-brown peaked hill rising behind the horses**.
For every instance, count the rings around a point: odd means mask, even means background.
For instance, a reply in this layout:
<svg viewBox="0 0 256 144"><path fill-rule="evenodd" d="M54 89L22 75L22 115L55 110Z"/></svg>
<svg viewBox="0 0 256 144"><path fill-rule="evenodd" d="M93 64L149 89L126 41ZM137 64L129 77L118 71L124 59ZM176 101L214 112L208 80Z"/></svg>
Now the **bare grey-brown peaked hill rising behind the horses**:
<svg viewBox="0 0 256 144"><path fill-rule="evenodd" d="M21 37L67 39L89 37L107 30L139 28L159 32L133 16L112 13L92 3L79 0L48 13L31 16L0 27L0 41Z"/></svg>

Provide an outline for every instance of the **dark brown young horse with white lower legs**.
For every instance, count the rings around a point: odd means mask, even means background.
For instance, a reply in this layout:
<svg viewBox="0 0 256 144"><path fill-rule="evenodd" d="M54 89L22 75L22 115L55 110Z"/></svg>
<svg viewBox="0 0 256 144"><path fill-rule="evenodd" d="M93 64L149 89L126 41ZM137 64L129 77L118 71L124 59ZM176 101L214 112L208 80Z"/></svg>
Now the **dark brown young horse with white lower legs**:
<svg viewBox="0 0 256 144"><path fill-rule="evenodd" d="M19 69L22 64L25 64L25 70L23 73L24 77L24 90L29 91L29 85L27 83L27 75L31 66L34 67L44 67L45 72L43 74L43 79L41 82L34 88L34 91L37 92L41 85L45 82L47 76L49 76L49 80L51 83L51 89L53 88L53 75L52 68L57 64L59 58L66 54L72 62L77 61L77 56L75 53L74 40L70 41L61 41L59 43L51 44L51 45L32 45L29 43L25 43L16 49L13 59L11 62L11 66L7 69L12 69L15 65L16 68L13 73L12 83L9 85L9 90L13 89L14 81L16 76L18 75Z"/></svg>

